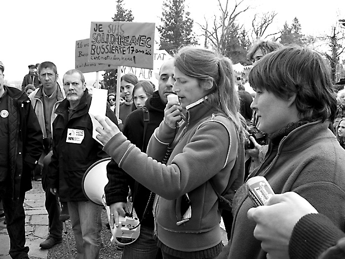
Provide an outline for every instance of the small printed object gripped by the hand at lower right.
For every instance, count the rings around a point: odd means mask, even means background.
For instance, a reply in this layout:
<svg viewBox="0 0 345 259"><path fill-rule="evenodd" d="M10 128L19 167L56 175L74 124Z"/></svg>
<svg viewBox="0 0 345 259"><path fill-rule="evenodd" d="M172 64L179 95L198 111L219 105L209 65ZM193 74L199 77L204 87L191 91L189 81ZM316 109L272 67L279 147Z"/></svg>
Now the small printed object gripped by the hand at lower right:
<svg viewBox="0 0 345 259"><path fill-rule="evenodd" d="M250 178L246 183L246 189L250 199L256 204L256 206L264 205L264 202L269 200L275 194L271 185L263 176Z"/></svg>

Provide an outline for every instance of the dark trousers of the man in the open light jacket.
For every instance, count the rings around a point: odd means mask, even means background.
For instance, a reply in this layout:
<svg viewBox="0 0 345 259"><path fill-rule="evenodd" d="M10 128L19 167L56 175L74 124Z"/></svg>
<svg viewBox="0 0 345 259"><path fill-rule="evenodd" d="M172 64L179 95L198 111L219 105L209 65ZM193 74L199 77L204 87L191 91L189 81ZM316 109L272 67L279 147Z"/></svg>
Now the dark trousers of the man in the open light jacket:
<svg viewBox="0 0 345 259"><path fill-rule="evenodd" d="M49 235L54 238L61 238L62 237L62 230L63 230L63 223L60 221L60 204L57 195L54 195L50 192L49 188L47 187L47 170L48 165L51 161L51 156L53 152L50 151L43 159L43 170L42 170L42 187L45 191L45 209L48 212L48 220L49 220Z"/></svg>

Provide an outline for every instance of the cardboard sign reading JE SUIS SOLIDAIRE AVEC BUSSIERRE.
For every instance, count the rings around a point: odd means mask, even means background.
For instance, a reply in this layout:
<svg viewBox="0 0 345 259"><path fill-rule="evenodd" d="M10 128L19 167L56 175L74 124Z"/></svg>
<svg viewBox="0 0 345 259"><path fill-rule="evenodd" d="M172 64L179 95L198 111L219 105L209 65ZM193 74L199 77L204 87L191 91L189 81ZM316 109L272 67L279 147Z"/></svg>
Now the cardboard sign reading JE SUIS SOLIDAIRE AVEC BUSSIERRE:
<svg viewBox="0 0 345 259"><path fill-rule="evenodd" d="M91 63L153 69L154 23L91 22Z"/></svg>

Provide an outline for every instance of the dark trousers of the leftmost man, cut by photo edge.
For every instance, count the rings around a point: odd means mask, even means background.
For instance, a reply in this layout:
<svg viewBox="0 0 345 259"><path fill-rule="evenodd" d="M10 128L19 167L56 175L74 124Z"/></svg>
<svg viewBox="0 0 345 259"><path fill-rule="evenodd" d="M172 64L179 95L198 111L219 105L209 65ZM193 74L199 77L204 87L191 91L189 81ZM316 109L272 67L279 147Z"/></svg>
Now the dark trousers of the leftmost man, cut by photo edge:
<svg viewBox="0 0 345 259"><path fill-rule="evenodd" d="M12 193L5 191L7 182L0 182L0 198L7 221L7 232L10 240L9 255L13 259L28 256L29 247L25 246L25 211L23 207L25 193L12 201Z"/></svg>

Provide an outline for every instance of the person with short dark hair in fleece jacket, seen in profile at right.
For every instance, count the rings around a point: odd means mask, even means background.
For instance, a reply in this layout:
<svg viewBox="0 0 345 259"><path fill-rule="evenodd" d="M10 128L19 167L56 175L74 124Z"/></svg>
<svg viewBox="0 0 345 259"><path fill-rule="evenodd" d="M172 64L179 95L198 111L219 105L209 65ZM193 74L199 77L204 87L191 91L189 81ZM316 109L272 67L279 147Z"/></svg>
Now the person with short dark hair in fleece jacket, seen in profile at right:
<svg viewBox="0 0 345 259"><path fill-rule="evenodd" d="M249 82L258 128L269 134L265 157L249 179L264 176L275 193L298 193L345 229L345 150L328 129L337 101L325 60L308 48L282 47L253 66ZM231 240L219 259L266 259L253 235L255 222L247 218L254 206L243 185L233 202Z"/></svg>

